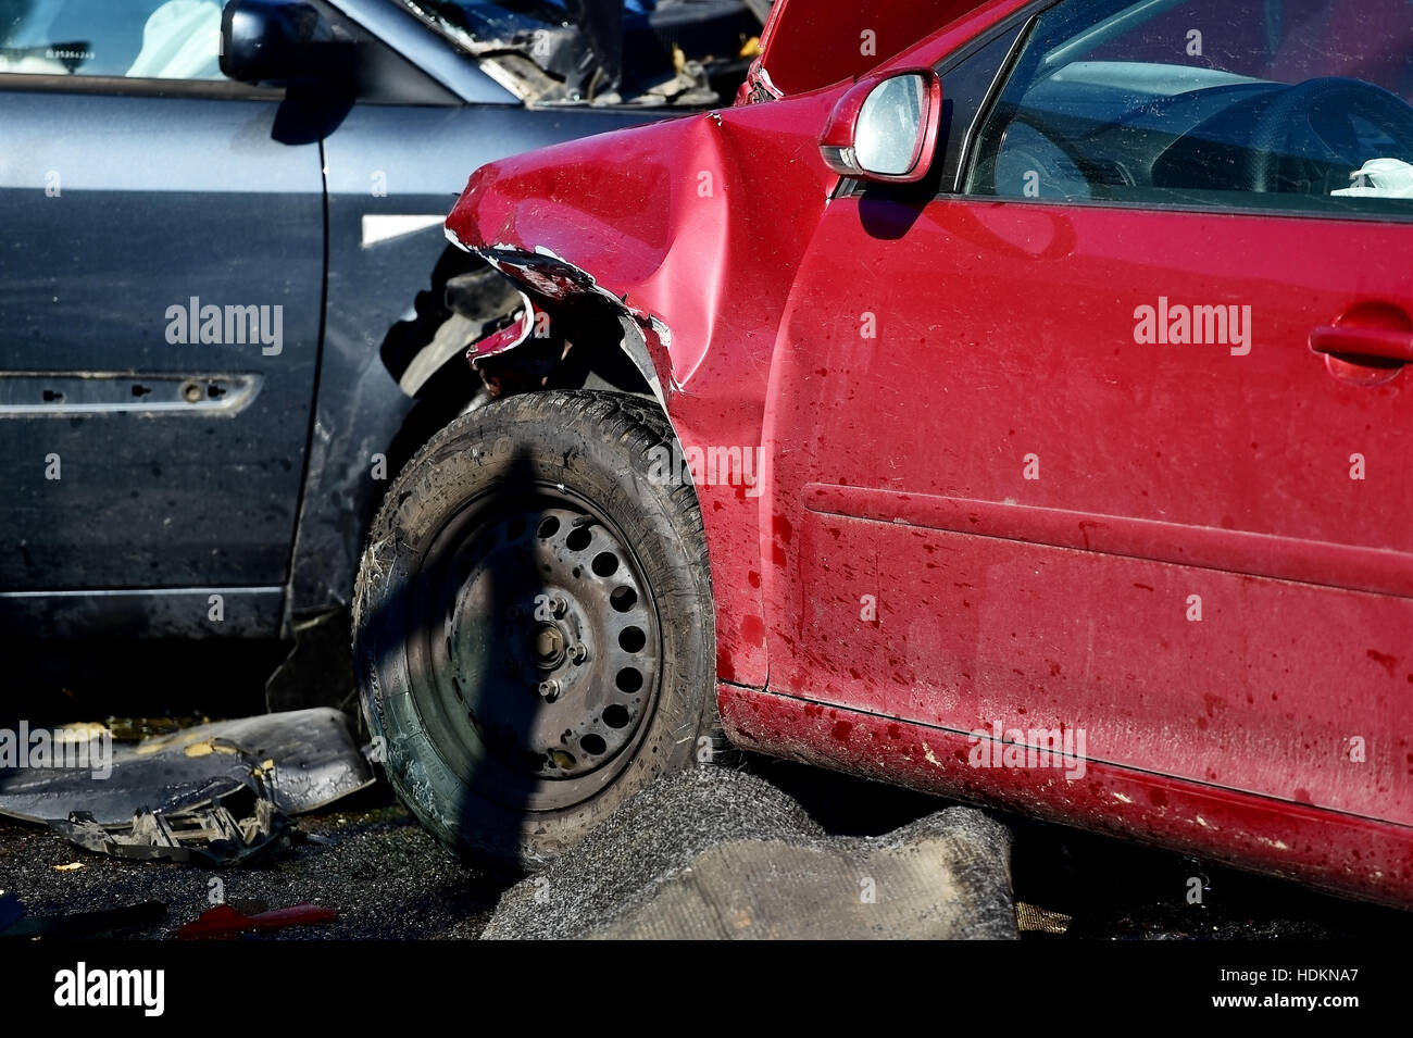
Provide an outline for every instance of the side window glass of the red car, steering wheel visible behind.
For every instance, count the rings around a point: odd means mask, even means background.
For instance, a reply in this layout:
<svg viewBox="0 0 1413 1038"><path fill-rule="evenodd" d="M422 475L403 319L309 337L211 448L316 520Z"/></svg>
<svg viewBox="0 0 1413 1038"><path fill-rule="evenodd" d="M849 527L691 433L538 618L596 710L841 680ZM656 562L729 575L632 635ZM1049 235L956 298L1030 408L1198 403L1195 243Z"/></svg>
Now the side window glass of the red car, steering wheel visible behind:
<svg viewBox="0 0 1413 1038"><path fill-rule="evenodd" d="M1413 216L1409 0L1061 0L972 195Z"/></svg>

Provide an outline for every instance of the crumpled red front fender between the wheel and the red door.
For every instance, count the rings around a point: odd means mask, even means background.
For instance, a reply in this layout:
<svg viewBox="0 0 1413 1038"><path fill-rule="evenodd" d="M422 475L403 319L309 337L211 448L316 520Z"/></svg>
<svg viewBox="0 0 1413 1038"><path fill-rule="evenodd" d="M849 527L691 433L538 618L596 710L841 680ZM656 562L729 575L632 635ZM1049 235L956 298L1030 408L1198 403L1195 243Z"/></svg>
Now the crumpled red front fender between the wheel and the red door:
<svg viewBox="0 0 1413 1038"><path fill-rule="evenodd" d="M514 243L552 253L626 308L670 314L670 339L650 347L667 359L661 383L684 446L756 448L790 273L838 181L817 143L829 105L825 93L728 109L482 167L447 226L492 257ZM794 131L780 124L786 112ZM698 494L718 675L764 685L759 496L739 483Z"/></svg>

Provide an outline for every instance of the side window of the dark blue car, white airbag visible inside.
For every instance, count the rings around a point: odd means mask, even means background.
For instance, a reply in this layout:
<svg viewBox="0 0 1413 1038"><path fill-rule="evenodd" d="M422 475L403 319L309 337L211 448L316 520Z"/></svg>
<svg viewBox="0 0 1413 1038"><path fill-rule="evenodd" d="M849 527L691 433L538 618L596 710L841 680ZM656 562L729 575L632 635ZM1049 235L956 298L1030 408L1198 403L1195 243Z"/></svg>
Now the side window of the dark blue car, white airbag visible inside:
<svg viewBox="0 0 1413 1038"><path fill-rule="evenodd" d="M222 79L218 0L0 0L0 72Z"/></svg>

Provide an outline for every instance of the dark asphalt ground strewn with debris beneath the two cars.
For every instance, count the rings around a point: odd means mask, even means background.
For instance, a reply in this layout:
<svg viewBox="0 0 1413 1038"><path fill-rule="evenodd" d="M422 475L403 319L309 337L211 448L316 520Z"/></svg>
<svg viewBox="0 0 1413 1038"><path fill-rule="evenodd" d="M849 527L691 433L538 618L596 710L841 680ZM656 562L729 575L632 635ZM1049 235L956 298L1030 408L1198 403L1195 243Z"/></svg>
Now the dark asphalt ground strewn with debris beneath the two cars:
<svg viewBox="0 0 1413 1038"><path fill-rule="evenodd" d="M829 832L876 835L944 804L803 765L750 760L747 767L791 792ZM1064 929L1024 931L1027 939L1413 935L1410 914L1060 826L1006 821L1016 832L1016 900L1047 909L1046 928ZM0 890L14 891L38 917L161 901L164 922L126 935L164 938L205 911L219 883L227 901L267 908L312 902L338 912L335 922L266 936L432 939L479 936L510 883L451 857L391 798L386 782L301 816L298 829L304 839L267 864L212 870L119 861L79 850L41 826L4 821ZM1204 877L1201 905L1187 902L1191 876Z"/></svg>

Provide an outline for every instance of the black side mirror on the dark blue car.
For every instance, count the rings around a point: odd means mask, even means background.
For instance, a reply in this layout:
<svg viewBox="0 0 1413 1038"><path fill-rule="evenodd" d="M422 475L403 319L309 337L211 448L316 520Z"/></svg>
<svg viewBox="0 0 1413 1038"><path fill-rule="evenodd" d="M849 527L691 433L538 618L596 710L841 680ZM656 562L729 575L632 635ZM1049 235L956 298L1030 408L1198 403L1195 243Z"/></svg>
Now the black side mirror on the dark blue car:
<svg viewBox="0 0 1413 1038"><path fill-rule="evenodd" d="M220 71L243 83L319 79L336 49L317 8L292 0L230 0L220 16Z"/></svg>

